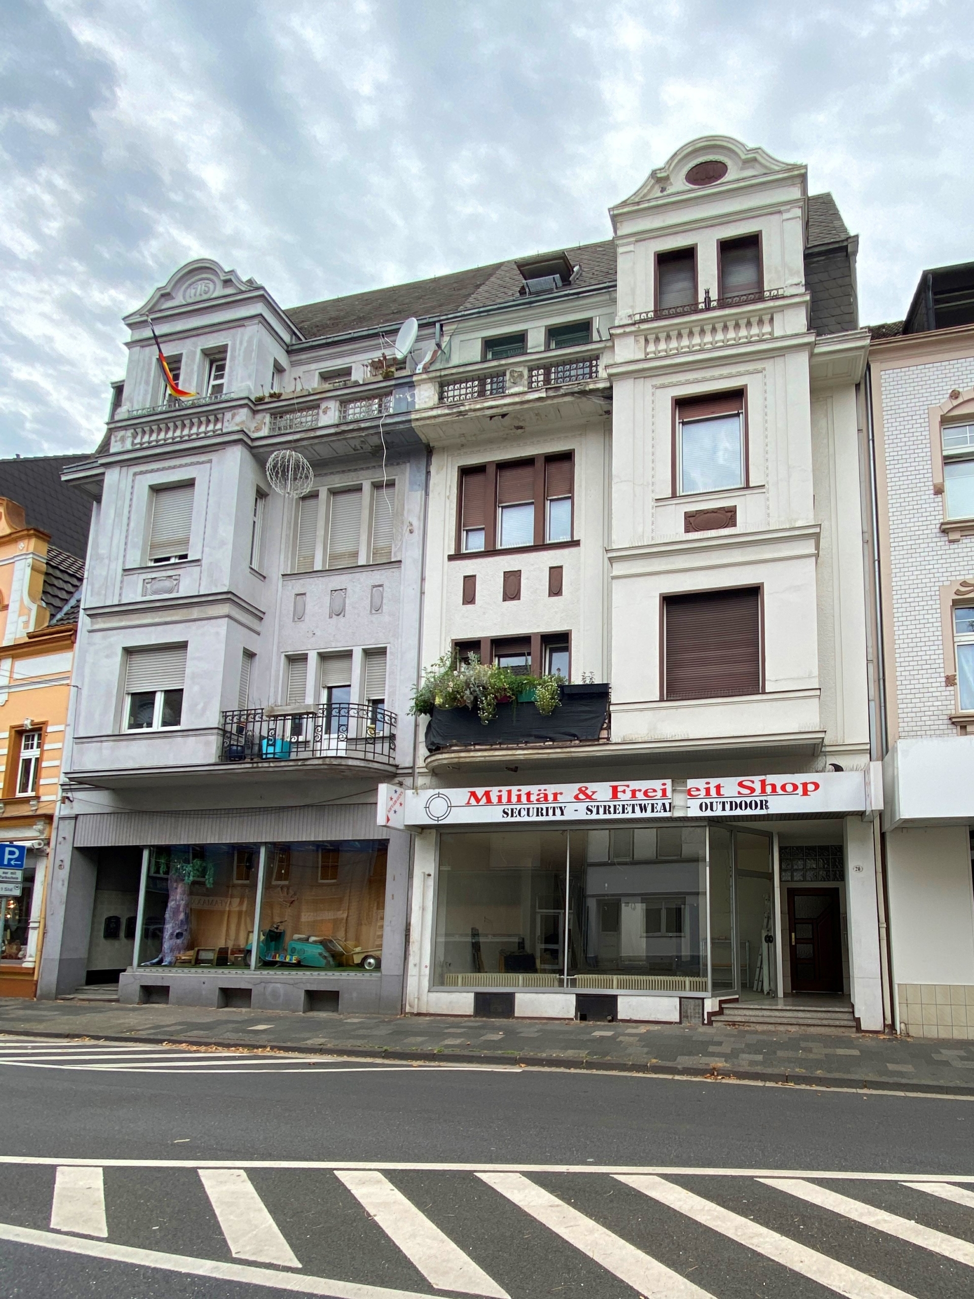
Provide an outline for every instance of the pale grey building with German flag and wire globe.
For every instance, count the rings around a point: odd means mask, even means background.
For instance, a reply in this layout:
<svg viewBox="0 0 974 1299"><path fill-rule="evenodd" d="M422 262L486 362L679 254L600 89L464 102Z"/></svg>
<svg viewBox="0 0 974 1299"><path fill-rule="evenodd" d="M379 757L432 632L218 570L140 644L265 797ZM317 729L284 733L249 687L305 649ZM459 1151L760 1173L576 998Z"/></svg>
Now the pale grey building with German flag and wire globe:
<svg viewBox="0 0 974 1299"><path fill-rule="evenodd" d="M288 314L205 260L126 323L66 475L95 509L39 995L397 1012L409 840L375 788L413 760L412 379L355 304ZM265 473L288 449L300 495Z"/></svg>

